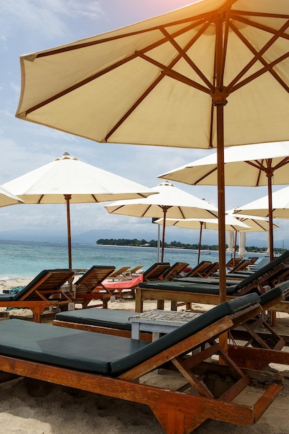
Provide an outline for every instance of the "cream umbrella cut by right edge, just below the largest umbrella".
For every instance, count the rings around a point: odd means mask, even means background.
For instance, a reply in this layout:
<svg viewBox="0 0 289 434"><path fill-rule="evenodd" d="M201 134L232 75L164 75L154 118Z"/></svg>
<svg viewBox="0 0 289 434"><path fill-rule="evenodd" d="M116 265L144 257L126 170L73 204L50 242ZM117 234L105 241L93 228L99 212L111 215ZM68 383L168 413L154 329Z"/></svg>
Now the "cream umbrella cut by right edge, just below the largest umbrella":
<svg viewBox="0 0 289 434"><path fill-rule="evenodd" d="M273 254L272 179L274 184L288 184L289 141L234 146L224 151L225 184L268 186L270 252ZM217 185L216 153L196 160L159 177L191 185ZM270 254L270 259L274 257ZM245 256L245 255L243 255ZM271 257L272 256L272 257Z"/></svg>

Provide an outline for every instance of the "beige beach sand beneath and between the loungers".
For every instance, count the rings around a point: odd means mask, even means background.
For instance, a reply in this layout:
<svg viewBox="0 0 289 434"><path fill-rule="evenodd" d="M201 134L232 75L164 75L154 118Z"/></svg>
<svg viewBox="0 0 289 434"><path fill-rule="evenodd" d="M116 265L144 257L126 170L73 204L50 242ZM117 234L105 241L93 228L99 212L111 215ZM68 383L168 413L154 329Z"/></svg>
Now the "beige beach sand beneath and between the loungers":
<svg viewBox="0 0 289 434"><path fill-rule="evenodd" d="M4 288L23 286L29 279L0 281L0 293ZM167 309L168 309L167 305ZM155 302L146 302L146 309L155 309ZM194 304L195 310L202 311L210 306ZM109 304L110 309L134 311L134 301L117 300ZM4 309L1 308L0 311ZM32 319L28 309L10 311L18 317ZM289 333L289 315L277 315L276 330ZM43 322L51 322L44 318ZM288 350L289 351L289 350ZM194 431L196 434L288 434L289 433L289 366L271 367L282 371L284 388L268 408L259 422L252 426L235 426L211 420ZM160 370L148 374L150 383L177 385L177 373ZM147 381L145 376L142 381ZM256 390L249 388L240 395L243 403L256 398ZM239 400L238 398L238 400ZM71 388L19 378L0 384L0 434L161 434L164 431L147 406L113 399L110 397L82 392Z"/></svg>

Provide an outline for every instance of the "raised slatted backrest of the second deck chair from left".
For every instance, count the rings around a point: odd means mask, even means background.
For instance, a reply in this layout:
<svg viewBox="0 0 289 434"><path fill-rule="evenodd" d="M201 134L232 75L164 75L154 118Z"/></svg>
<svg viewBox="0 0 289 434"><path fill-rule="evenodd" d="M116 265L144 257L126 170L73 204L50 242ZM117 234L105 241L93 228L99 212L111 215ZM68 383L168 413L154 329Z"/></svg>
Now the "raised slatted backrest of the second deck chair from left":
<svg viewBox="0 0 289 434"><path fill-rule="evenodd" d="M92 266L76 281L76 293L87 293L100 286L114 272L114 266Z"/></svg>

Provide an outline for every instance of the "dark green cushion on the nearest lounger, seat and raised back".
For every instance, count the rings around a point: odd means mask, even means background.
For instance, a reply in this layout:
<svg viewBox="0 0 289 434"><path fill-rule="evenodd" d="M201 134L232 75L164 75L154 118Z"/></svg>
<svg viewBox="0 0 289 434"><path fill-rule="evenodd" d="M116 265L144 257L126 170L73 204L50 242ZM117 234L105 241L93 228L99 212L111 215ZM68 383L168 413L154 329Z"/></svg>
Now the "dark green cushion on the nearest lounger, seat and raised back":
<svg viewBox="0 0 289 434"><path fill-rule="evenodd" d="M24 320L0 322L0 354L117 376L247 306L260 302L256 294L224 302L154 342L53 327Z"/></svg>

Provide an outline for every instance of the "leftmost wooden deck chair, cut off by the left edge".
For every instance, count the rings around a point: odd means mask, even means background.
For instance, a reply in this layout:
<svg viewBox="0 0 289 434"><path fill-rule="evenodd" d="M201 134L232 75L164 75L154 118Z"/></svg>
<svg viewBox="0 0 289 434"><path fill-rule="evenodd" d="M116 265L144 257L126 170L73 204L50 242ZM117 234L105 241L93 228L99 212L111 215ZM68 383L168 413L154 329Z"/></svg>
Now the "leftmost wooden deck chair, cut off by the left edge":
<svg viewBox="0 0 289 434"><path fill-rule="evenodd" d="M73 302L61 288L72 276L69 269L42 270L19 292L0 294L0 307L30 309L34 321L41 322L44 309Z"/></svg>

